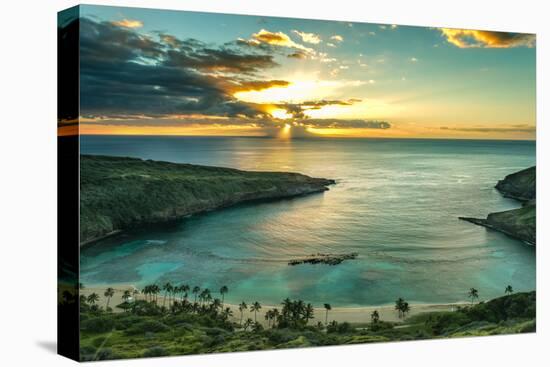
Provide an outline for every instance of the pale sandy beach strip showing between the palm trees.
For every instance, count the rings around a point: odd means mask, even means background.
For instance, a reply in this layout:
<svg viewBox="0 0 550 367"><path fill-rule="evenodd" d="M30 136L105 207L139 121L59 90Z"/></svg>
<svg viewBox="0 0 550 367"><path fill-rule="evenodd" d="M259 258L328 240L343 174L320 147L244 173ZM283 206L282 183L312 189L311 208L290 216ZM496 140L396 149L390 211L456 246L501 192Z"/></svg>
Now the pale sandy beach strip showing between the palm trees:
<svg viewBox="0 0 550 367"><path fill-rule="evenodd" d="M90 293L97 293L100 297L99 302L97 303L101 307L105 307L107 305L107 299L103 295L105 292L105 287L86 287L83 290L81 290L81 294L88 296ZM115 289L115 294L111 298L109 302L109 306L112 307L113 312L122 312L122 310L114 307L120 303L122 303L122 294L125 290L133 290L135 289L132 285L116 285L112 286L113 289ZM138 299L143 299L143 295L138 295ZM189 300L193 301L193 295L189 296ZM162 305L164 302L164 292L159 293L158 295L158 304ZM250 305L250 303L248 303ZM166 305L168 305L168 298L166 298ZM467 306L469 305L468 302L461 302L461 303L442 303L442 304L426 304L426 303L413 303L410 305L411 310L407 317L418 315L425 312L438 312L438 311L455 311L457 307L459 306ZM233 319L235 321L240 321L241 313L239 311L239 306L231 303L225 303L225 307L231 308L233 311ZM281 308L281 305L264 305L262 304L262 308L260 311L257 312L256 318L258 322L261 322L262 324L267 325L267 321L265 320L265 312L272 309L272 308ZM332 310L329 311L328 314L328 321L338 321L338 322L350 322L350 323L368 323L371 320L371 313L377 310L380 315L380 320L383 321L391 321L391 322L401 322L402 319L399 319L397 311L394 308L394 305L380 305L380 306L365 306L365 307L333 307ZM312 324L316 324L318 321L325 322L325 315L326 310L324 308L315 308L315 318L310 321ZM247 318L251 318L254 320L254 313L250 312L249 310L245 310L243 312L243 319L246 320Z"/></svg>

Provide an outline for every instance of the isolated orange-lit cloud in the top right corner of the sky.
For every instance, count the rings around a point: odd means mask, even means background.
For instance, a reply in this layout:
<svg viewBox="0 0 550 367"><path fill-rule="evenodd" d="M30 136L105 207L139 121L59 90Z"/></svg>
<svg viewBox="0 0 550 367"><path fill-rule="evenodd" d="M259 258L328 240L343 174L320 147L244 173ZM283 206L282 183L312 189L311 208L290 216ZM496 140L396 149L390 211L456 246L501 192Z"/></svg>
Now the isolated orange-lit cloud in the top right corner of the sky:
<svg viewBox="0 0 550 367"><path fill-rule="evenodd" d="M512 48L534 47L536 36L528 33L476 31L470 29L441 28L447 42L459 48Z"/></svg>

